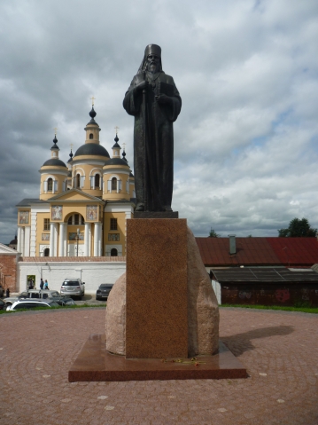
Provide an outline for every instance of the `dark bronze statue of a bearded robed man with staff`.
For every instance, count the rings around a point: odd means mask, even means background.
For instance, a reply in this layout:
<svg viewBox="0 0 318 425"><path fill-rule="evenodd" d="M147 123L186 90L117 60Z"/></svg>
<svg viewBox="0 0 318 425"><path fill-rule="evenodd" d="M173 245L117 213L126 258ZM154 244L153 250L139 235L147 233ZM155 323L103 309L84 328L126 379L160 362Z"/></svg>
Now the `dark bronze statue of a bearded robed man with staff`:
<svg viewBox="0 0 318 425"><path fill-rule="evenodd" d="M136 211L172 211L173 122L181 105L173 77L162 70L160 47L149 44L123 101L135 116Z"/></svg>

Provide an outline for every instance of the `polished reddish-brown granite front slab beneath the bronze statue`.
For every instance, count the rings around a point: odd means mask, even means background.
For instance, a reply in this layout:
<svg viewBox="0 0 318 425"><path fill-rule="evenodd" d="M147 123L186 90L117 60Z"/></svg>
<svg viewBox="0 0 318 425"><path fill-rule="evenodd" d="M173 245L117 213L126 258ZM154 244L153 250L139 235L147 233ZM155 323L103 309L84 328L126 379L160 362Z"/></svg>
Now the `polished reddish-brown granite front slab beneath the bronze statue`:
<svg viewBox="0 0 318 425"><path fill-rule="evenodd" d="M188 356L187 221L127 221L126 358Z"/></svg>

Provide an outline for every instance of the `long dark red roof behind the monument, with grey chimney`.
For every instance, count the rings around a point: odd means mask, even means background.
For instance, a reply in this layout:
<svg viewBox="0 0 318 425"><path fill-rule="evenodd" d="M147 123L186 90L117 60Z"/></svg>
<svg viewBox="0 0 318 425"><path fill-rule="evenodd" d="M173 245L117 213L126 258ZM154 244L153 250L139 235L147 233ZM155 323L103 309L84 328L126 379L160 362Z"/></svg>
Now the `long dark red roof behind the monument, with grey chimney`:
<svg viewBox="0 0 318 425"><path fill-rule="evenodd" d="M206 266L286 265L318 263L316 238L236 238L237 253L229 254L229 238L196 238ZM285 248L286 247L286 248Z"/></svg>

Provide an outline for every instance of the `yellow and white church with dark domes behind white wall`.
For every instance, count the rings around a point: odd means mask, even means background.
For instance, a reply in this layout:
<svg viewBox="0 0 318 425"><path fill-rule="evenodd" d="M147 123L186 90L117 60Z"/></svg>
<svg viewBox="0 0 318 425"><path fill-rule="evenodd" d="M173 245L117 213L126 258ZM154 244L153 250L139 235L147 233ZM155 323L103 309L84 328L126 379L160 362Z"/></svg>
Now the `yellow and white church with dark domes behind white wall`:
<svg viewBox="0 0 318 425"><path fill-rule="evenodd" d="M67 162L53 139L39 170L40 196L18 208L22 256L126 256L126 220L134 216L135 179L116 138L112 158L100 144L92 106L85 143Z"/></svg>

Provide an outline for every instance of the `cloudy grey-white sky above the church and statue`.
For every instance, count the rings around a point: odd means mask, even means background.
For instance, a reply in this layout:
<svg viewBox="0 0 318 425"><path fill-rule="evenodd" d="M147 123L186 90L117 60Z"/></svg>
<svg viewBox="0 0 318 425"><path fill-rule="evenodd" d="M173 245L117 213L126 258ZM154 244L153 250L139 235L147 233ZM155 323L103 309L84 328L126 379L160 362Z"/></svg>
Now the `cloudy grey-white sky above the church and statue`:
<svg viewBox="0 0 318 425"><path fill-rule="evenodd" d="M173 209L196 236L318 227L316 0L11 0L0 3L0 241L39 194L58 127L60 159L84 143L91 101L133 164L122 99L144 47L162 48L182 96Z"/></svg>

